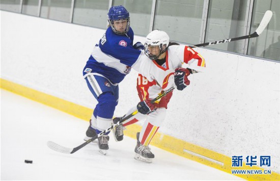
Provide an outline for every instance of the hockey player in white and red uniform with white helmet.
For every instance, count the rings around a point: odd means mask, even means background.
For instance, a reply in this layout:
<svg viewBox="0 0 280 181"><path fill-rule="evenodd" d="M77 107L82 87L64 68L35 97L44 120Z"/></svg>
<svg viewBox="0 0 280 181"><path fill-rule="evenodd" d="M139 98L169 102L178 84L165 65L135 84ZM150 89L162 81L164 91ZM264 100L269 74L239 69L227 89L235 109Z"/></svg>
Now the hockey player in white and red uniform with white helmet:
<svg viewBox="0 0 280 181"><path fill-rule="evenodd" d="M149 143L165 119L172 92L155 103L150 101L173 86L176 86L178 90L183 90L190 84L188 80L190 74L199 73L205 69L205 60L198 52L188 46L169 42L169 40L169 35L160 30L154 30L147 35L144 51L149 58L141 59L141 62L135 65L138 67L134 67L139 73L137 91L141 101L137 104L137 110L141 114L136 114L114 128L116 141L121 141L125 126L146 119L141 132L136 134L134 158L148 163L151 163L154 158L154 154L148 147ZM126 115L134 110L135 107L131 108ZM116 124L121 119L122 117L117 117L113 121Z"/></svg>

